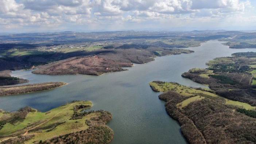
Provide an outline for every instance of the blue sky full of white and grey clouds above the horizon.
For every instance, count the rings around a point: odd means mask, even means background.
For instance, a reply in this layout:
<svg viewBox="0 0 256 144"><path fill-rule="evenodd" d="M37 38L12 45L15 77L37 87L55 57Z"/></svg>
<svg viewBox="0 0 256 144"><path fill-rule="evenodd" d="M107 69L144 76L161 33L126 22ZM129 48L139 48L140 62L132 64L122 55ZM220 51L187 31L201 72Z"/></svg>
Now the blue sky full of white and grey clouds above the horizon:
<svg viewBox="0 0 256 144"><path fill-rule="evenodd" d="M256 0L0 0L0 32L256 30Z"/></svg>

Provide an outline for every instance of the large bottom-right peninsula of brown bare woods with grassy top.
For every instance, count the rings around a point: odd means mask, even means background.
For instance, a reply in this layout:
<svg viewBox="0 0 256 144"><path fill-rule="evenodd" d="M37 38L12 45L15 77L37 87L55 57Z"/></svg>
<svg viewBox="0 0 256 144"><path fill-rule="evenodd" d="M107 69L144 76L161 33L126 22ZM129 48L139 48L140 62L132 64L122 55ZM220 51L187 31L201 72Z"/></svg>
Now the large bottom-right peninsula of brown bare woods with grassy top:
<svg viewBox="0 0 256 144"><path fill-rule="evenodd" d="M216 94L178 83L155 81L150 86L154 91L164 92L159 99L166 102L167 113L179 121L189 143L256 143L255 107L246 110L237 108L237 104L227 105Z"/></svg>

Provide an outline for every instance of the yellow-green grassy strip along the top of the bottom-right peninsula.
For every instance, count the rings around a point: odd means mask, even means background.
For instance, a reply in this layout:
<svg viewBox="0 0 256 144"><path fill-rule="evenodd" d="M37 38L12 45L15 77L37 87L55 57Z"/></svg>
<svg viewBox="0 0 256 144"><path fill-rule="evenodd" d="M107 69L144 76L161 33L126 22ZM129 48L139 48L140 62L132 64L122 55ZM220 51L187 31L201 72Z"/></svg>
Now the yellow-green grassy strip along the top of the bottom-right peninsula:
<svg viewBox="0 0 256 144"><path fill-rule="evenodd" d="M223 98L221 96L218 96L214 93L211 92L206 92L203 90L197 90L191 87L187 87L187 86L183 86L183 85L179 85L178 83L173 83L173 82L150 82L150 86L152 87L152 89L156 92L167 92L170 90L173 90L179 94L181 94L182 96L188 96L188 97L192 97L191 100L186 101L182 108L184 107L184 105L186 106L186 104L188 102L191 102L194 100L193 96L202 96L202 97L214 97L217 99L222 99L225 101L225 105L232 105L232 106L236 106L239 108L245 108L247 110L252 110L252 109L256 109L256 106L251 106L247 103L244 102L239 102L239 101L233 101L233 100L229 100L227 98ZM195 97L195 99L197 99L197 97Z"/></svg>

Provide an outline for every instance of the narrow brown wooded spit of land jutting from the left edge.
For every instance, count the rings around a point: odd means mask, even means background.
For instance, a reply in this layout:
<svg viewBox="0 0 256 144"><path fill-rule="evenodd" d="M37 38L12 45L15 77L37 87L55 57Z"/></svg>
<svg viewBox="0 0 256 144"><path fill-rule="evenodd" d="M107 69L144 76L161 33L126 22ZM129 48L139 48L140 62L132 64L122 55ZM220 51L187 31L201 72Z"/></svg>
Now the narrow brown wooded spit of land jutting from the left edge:
<svg viewBox="0 0 256 144"><path fill-rule="evenodd" d="M45 83L36 83L31 85L19 85L19 86L1 86L0 87L0 96L8 96L15 94L24 94L39 92L43 90L50 90L56 87L61 87L66 85L65 82L45 82Z"/></svg>

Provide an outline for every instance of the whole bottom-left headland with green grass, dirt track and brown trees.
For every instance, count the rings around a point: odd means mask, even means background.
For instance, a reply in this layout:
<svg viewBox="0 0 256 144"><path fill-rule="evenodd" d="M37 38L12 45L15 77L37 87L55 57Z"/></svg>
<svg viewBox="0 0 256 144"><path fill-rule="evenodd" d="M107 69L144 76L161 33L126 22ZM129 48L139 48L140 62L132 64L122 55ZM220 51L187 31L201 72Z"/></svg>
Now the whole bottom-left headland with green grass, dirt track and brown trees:
<svg viewBox="0 0 256 144"><path fill-rule="evenodd" d="M48 112L25 107L16 112L0 111L0 143L109 143L113 131L105 124L112 114L85 111L90 101L73 101Z"/></svg>

